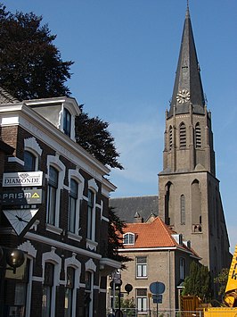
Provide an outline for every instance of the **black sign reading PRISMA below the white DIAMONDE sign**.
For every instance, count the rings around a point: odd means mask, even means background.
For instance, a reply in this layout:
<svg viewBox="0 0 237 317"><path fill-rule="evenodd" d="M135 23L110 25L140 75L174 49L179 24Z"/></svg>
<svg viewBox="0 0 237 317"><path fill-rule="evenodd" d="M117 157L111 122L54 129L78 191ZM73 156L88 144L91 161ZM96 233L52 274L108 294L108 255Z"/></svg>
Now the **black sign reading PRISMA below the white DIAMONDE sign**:
<svg viewBox="0 0 237 317"><path fill-rule="evenodd" d="M0 192L1 204L41 204L42 189L14 189Z"/></svg>

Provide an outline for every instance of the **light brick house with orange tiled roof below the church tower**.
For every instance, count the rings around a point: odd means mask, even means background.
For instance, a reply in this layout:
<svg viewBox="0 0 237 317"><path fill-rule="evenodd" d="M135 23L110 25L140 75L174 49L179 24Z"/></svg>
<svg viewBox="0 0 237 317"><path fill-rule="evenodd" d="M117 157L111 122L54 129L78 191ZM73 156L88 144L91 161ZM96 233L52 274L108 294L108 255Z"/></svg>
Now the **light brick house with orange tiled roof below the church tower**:
<svg viewBox="0 0 237 317"><path fill-rule="evenodd" d="M123 298L135 298L138 316L155 312L157 304L153 303L150 285L159 281L165 285L159 312L178 309L182 283L189 274L190 264L200 260L190 241L184 241L181 234L176 234L155 216L147 222L127 223L123 241L124 248L119 249L119 253L132 259L126 263L127 270L120 271ZM125 289L127 284L133 286L129 295ZM112 296L111 288L108 292Z"/></svg>

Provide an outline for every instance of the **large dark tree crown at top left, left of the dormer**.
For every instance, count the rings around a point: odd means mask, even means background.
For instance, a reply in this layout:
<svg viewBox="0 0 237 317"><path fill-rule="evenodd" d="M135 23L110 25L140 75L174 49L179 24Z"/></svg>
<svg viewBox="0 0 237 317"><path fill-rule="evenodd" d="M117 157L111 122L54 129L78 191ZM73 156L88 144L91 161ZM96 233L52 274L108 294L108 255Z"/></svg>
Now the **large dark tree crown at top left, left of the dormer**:
<svg viewBox="0 0 237 317"><path fill-rule="evenodd" d="M20 101L69 96L65 82L73 62L63 62L42 16L15 14L0 4L0 86Z"/></svg>

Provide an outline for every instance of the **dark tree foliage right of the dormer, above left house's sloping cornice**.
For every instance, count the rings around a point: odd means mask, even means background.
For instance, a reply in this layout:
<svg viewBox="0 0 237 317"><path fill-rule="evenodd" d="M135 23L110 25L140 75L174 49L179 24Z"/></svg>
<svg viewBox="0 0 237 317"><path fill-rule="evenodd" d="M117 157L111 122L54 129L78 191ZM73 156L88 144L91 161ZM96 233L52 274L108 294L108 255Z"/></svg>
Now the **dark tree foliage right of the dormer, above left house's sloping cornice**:
<svg viewBox="0 0 237 317"><path fill-rule="evenodd" d="M83 111L83 105L80 108ZM122 170L123 166L118 162L119 153L108 127L108 122L98 117L90 118L88 113L81 113L76 118L77 142L101 163Z"/></svg>

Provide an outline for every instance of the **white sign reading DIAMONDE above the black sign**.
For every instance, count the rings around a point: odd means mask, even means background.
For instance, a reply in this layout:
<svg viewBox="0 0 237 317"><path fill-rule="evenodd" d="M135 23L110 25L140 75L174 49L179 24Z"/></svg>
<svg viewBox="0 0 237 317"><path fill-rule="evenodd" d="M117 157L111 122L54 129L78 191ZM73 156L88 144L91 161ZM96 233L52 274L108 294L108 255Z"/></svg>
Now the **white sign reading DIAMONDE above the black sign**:
<svg viewBox="0 0 237 317"><path fill-rule="evenodd" d="M43 171L4 173L3 188L42 186Z"/></svg>

